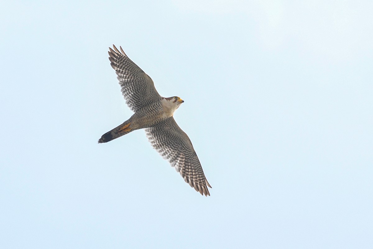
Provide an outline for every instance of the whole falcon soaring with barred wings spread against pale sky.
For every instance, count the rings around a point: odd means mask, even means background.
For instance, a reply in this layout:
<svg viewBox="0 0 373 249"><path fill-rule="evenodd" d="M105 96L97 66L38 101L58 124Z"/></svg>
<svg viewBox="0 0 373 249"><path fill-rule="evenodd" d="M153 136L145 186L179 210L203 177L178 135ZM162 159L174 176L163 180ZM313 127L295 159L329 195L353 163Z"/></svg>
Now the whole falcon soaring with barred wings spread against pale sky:
<svg viewBox="0 0 373 249"><path fill-rule="evenodd" d="M159 95L153 80L128 56L113 45L109 48L110 65L114 68L122 95L134 115L111 131L103 134L98 143L106 143L134 130L145 129L151 145L200 194L210 195L210 187L203 173L189 137L176 124L173 113L184 102L180 97Z"/></svg>

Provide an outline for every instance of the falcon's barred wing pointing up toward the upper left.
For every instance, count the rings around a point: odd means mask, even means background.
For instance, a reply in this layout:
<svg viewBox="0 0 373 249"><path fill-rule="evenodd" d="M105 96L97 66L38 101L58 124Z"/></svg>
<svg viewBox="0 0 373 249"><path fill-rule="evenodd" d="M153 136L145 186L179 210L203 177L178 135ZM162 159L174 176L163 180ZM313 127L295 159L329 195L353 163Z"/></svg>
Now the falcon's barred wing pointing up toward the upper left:
<svg viewBox="0 0 373 249"><path fill-rule="evenodd" d="M122 87L122 94L128 107L136 112L138 109L154 101L160 100L161 96L154 87L153 80L145 74L127 55L113 45L109 48L109 60L115 69L117 79Z"/></svg>

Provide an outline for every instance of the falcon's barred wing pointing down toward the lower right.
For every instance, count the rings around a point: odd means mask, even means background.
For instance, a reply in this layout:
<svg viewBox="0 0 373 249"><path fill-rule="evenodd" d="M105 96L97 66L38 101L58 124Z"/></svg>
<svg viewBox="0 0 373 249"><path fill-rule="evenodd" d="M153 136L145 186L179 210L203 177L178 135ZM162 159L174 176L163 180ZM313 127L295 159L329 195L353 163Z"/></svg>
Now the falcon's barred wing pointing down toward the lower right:
<svg viewBox="0 0 373 249"><path fill-rule="evenodd" d="M153 148L180 172L186 183L202 195L210 195L207 186L211 186L206 180L192 143L173 117L145 129L145 132Z"/></svg>

